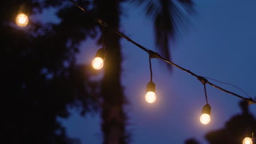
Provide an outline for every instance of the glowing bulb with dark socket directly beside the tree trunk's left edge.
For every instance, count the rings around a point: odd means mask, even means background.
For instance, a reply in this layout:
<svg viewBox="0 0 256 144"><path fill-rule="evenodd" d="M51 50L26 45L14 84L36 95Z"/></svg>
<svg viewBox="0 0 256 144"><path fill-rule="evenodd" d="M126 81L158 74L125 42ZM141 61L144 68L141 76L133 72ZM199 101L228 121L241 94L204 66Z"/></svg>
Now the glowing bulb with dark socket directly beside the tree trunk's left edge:
<svg viewBox="0 0 256 144"><path fill-rule="evenodd" d="M92 60L91 65L94 69L101 69L104 65L104 59L106 57L106 51L104 48L98 49L95 58Z"/></svg>

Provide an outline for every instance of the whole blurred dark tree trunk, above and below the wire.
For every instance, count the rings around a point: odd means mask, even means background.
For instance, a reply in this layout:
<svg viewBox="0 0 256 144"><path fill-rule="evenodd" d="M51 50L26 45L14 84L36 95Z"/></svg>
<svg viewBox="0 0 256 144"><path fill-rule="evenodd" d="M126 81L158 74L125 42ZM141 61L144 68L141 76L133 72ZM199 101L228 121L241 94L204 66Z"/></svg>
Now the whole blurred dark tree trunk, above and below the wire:
<svg viewBox="0 0 256 144"><path fill-rule="evenodd" d="M120 2L115 0L97 1L97 13L113 29L119 29ZM109 29L103 29L103 43L106 47L104 76L101 85L102 131L104 144L127 143L126 115L124 112L125 96L121 86L121 46L120 37Z"/></svg>

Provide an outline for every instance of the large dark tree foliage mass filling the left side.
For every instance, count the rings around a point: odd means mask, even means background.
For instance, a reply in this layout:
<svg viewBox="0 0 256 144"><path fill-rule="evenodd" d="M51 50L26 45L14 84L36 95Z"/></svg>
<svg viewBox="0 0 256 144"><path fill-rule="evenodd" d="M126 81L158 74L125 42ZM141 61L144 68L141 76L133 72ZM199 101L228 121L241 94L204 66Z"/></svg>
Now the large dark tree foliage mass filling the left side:
<svg viewBox="0 0 256 144"><path fill-rule="evenodd" d="M35 14L61 2L1 2L0 143L78 143L57 118L69 116L68 106L78 107L82 114L97 108L97 83L89 81L88 66L75 65L80 41L96 34L94 23L79 19L82 14L66 6L58 13L57 25L30 21L20 28L14 23L20 11Z"/></svg>

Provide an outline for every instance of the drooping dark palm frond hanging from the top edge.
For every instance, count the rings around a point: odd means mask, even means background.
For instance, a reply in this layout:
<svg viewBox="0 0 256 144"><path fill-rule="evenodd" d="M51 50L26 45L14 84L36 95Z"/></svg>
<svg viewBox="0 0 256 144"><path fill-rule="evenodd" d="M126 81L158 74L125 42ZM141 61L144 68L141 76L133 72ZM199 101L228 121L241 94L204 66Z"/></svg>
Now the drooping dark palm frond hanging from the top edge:
<svg viewBox="0 0 256 144"><path fill-rule="evenodd" d="M142 6L145 14L154 22L155 46L160 54L171 61L171 44L179 34L180 28L188 26L187 16L194 14L191 0L131 0ZM167 65L171 68L170 65Z"/></svg>

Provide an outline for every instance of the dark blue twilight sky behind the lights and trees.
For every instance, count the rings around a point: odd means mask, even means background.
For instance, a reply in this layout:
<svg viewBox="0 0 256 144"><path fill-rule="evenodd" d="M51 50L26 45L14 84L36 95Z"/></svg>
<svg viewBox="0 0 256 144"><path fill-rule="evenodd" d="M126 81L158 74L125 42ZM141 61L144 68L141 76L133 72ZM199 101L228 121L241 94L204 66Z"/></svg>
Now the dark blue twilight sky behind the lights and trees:
<svg viewBox="0 0 256 144"><path fill-rule="evenodd" d="M189 28L172 45L173 62L197 75L232 83L256 97L256 1L198 0L195 4L197 15L191 17ZM120 31L155 51L152 22L129 4L124 4L124 10L128 17L123 17ZM152 63L157 98L153 104L146 103L148 55L126 40L122 40L122 46L123 86L131 103L126 106L130 117L127 129L132 133L132 144L184 143L190 137L207 143L203 136L208 131L222 128L231 116L241 112L237 105L240 99L207 85L211 123L202 125L199 117L206 104L202 84L177 68L169 73L158 59ZM86 41L78 63L90 63L100 47L96 41ZM216 84L245 95L239 89ZM250 106L256 116L255 108ZM102 142L99 115L80 117L74 111L71 118L61 121L68 135L82 143Z"/></svg>

